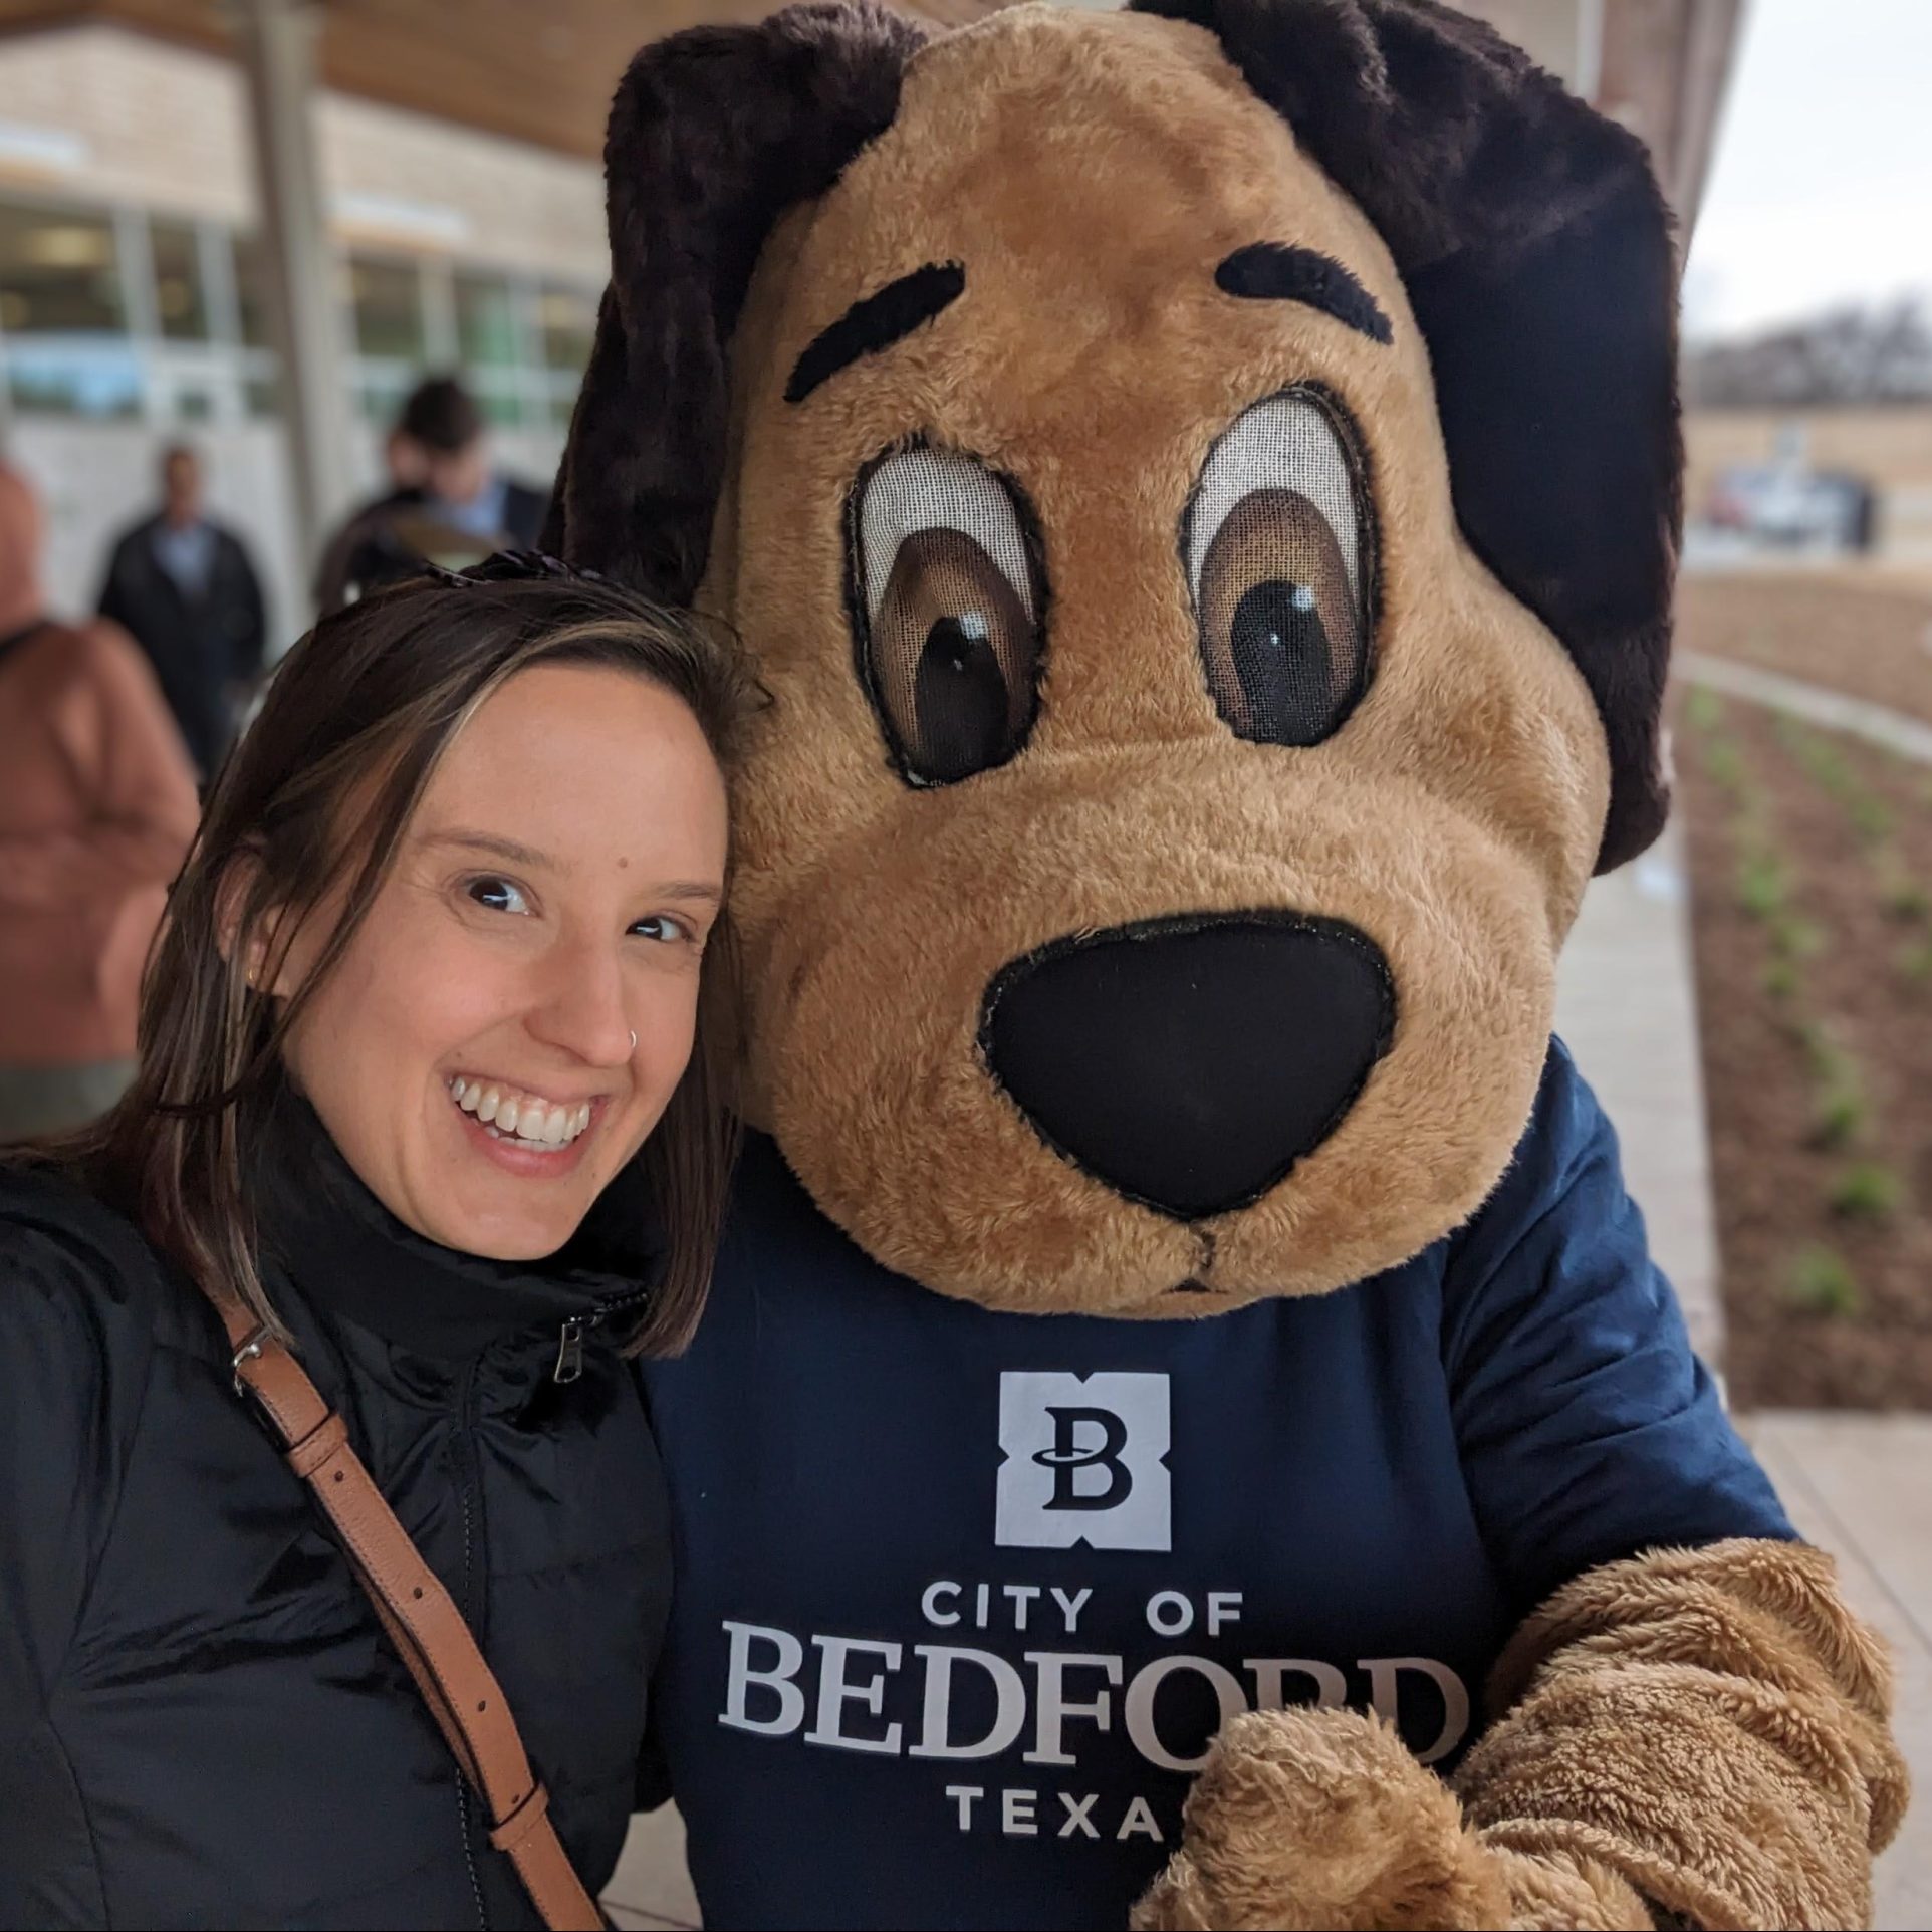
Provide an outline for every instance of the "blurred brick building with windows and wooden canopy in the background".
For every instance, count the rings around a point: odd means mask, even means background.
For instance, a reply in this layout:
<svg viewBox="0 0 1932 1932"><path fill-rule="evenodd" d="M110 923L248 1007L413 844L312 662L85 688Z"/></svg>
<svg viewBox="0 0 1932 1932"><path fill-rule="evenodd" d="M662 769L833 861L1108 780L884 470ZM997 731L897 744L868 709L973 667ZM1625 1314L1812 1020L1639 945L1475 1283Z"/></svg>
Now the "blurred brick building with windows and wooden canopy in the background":
<svg viewBox="0 0 1932 1932"><path fill-rule="evenodd" d="M908 0L958 25L997 0ZM1107 4L1107 0L1099 0ZM1464 0L1642 133L1689 226L1739 0ZM504 466L556 466L605 278L603 118L638 43L759 0L367 0L317 8L313 162L340 305L346 471L303 469L278 383L263 151L236 23L298 0L0 0L0 444L44 491L62 605L162 442L261 560L270 634L309 616L319 531L375 483L425 369L458 369ZM259 44L259 43L257 43ZM253 70L249 70L253 71ZM313 440L313 439L311 439ZM292 462L294 458L294 462ZM309 498L298 512L296 483Z"/></svg>

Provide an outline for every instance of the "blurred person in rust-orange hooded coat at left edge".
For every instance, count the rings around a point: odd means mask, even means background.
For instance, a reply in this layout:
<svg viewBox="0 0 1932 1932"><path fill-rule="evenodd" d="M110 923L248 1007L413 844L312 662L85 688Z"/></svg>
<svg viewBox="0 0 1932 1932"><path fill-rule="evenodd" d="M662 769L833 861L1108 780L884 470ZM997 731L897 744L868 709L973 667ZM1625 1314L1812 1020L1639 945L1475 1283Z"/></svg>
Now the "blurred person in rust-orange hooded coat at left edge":
<svg viewBox="0 0 1932 1932"><path fill-rule="evenodd" d="M41 506L0 468L0 1142L83 1126L133 1068L135 991L195 835L141 653L41 593Z"/></svg>

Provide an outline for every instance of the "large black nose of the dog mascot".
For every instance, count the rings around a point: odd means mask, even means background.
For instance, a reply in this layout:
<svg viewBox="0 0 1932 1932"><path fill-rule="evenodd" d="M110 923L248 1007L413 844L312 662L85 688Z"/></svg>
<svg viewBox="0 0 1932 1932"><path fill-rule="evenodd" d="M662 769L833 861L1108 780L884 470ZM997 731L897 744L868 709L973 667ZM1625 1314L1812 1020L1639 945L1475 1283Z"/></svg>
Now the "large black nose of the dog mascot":
<svg viewBox="0 0 1932 1932"><path fill-rule="evenodd" d="M1341 1124L1393 1020L1387 960L1352 925L1192 916L1001 968L980 1045L1051 1148L1194 1221L1265 1194Z"/></svg>

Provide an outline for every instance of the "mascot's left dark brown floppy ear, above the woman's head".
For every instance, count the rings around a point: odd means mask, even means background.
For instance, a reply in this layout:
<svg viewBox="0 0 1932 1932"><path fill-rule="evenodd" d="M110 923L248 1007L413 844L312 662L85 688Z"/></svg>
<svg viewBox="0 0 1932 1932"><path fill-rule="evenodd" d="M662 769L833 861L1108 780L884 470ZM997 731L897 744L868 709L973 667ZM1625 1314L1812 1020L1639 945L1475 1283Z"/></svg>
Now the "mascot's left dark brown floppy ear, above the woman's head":
<svg viewBox="0 0 1932 1932"><path fill-rule="evenodd" d="M611 286L545 547L672 603L705 570L728 350L757 253L893 120L925 35L873 6L794 6L643 48L605 139Z"/></svg>

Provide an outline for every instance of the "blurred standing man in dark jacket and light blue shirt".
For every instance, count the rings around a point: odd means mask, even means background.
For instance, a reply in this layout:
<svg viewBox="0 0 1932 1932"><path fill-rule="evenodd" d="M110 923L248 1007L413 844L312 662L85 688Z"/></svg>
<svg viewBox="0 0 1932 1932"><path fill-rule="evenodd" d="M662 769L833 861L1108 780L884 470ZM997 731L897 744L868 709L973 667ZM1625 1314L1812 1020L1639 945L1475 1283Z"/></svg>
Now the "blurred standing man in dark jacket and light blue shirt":
<svg viewBox="0 0 1932 1932"><path fill-rule="evenodd" d="M255 564L207 516L201 458L185 444L162 452L160 495L160 508L114 541L100 614L147 651L207 781L261 676L269 626Z"/></svg>

